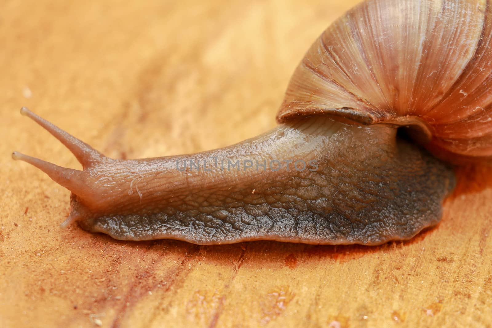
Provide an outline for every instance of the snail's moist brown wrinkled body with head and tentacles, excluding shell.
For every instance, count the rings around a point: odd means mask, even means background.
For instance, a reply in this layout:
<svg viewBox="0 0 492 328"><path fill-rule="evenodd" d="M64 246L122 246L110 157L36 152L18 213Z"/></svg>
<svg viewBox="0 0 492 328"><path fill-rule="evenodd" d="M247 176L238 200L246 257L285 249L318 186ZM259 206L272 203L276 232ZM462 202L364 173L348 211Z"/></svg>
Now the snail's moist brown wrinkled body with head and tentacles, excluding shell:
<svg viewBox="0 0 492 328"><path fill-rule="evenodd" d="M62 226L78 221L115 239L380 244L435 225L455 181L446 164L386 124L365 127L311 117L222 149L118 160L27 109L21 112L62 141L84 167L65 169L13 153L72 192L71 213ZM221 159L239 160L243 167L221 170ZM267 170L243 164L274 159L292 162L273 170L270 164ZM177 160L208 160L210 171L184 170ZM294 165L299 160L307 163L304 170Z"/></svg>

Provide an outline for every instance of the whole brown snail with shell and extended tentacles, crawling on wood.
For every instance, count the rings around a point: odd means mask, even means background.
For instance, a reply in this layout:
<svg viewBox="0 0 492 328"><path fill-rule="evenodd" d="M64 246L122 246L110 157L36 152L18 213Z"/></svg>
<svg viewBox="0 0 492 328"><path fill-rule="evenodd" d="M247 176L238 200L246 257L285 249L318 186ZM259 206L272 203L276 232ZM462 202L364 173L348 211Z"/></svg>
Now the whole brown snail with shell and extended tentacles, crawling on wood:
<svg viewBox="0 0 492 328"><path fill-rule="evenodd" d="M62 223L115 239L377 245L436 225L454 165L492 155L492 9L366 0L296 68L279 125L236 145L113 159L26 108L83 170L14 152L71 191Z"/></svg>

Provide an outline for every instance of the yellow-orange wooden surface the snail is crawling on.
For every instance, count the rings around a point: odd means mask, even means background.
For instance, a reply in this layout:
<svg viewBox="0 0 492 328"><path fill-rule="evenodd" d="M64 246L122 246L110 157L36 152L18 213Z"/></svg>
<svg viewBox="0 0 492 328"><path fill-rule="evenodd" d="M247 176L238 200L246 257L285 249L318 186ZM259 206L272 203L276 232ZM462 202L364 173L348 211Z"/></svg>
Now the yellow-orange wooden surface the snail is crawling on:
<svg viewBox="0 0 492 328"><path fill-rule="evenodd" d="M380 247L122 242L61 230L79 168L28 106L109 156L212 149L275 126L288 78L356 0L0 4L0 327L492 327L492 171L442 223Z"/></svg>

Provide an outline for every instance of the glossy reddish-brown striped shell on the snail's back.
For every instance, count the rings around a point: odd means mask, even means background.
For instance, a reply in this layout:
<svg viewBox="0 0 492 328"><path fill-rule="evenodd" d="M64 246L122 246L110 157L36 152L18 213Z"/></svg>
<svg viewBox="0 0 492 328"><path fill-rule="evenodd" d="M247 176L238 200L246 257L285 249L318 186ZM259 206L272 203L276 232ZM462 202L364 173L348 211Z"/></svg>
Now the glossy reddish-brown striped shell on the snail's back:
<svg viewBox="0 0 492 328"><path fill-rule="evenodd" d="M492 157L491 40L486 0L367 0L310 47L277 119L420 125L437 156Z"/></svg>

